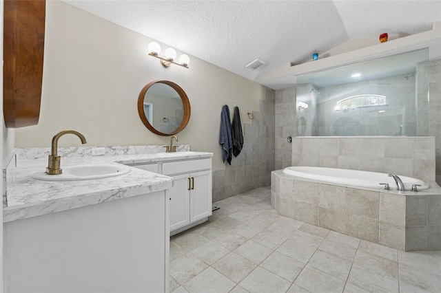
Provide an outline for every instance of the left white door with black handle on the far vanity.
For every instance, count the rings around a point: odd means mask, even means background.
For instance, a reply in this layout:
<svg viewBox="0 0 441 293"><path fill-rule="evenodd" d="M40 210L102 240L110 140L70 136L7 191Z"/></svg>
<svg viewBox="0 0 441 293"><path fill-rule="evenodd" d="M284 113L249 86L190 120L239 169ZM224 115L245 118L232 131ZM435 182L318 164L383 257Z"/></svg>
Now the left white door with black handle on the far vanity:
<svg viewBox="0 0 441 293"><path fill-rule="evenodd" d="M170 231L181 228L190 222L189 213L189 175L173 176L174 186L167 191L170 200Z"/></svg>

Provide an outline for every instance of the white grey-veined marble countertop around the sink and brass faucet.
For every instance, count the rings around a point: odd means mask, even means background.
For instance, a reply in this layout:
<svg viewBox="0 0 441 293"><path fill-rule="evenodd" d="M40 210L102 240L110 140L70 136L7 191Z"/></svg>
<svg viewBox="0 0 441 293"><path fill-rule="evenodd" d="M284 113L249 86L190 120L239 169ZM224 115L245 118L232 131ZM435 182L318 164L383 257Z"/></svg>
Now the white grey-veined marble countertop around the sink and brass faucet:
<svg viewBox="0 0 441 293"><path fill-rule="evenodd" d="M82 158L61 157L61 169L76 164L148 164L174 160L211 158L212 153L176 152L137 155L102 155ZM45 171L48 158L18 160L8 173L8 206L3 208L3 223L71 208L89 206L172 188L172 177L132 168L130 173L98 180L43 181L34 173Z"/></svg>

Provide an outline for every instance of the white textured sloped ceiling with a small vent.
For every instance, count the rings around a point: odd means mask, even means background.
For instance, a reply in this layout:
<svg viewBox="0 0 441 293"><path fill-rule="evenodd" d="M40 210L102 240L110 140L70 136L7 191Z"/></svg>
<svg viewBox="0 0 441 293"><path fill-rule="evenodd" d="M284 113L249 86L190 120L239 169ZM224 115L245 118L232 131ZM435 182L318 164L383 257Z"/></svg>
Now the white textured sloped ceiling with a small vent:
<svg viewBox="0 0 441 293"><path fill-rule="evenodd" d="M349 40L416 34L441 21L441 0L64 2L251 80ZM245 68L256 58L266 64Z"/></svg>

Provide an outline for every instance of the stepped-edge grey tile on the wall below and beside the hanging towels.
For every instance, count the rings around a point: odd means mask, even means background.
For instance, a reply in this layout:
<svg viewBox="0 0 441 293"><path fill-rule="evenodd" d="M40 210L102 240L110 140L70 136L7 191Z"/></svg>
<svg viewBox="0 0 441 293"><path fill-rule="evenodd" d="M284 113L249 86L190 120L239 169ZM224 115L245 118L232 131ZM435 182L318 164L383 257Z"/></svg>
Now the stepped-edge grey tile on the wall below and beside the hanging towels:
<svg viewBox="0 0 441 293"><path fill-rule="evenodd" d="M269 186L274 171L274 91L267 89L266 100L260 100L259 112L249 123L247 116L243 128L243 149L233 156L231 166L213 173L213 202L245 191Z"/></svg>

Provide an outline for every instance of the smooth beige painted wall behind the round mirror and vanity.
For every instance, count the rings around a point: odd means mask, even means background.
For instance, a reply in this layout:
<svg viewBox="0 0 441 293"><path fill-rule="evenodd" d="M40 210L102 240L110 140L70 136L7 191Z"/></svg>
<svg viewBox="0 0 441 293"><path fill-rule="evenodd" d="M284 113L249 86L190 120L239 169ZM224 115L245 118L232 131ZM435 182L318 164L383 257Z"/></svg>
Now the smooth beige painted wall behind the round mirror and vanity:
<svg viewBox="0 0 441 293"><path fill-rule="evenodd" d="M40 120L16 129L15 147L50 146L62 129L81 131L89 146L167 144L170 138L144 127L136 102L150 81L172 80L192 107L187 127L177 135L179 143L213 152L214 170L225 168L218 144L220 110L226 104L233 111L237 104L242 122L251 123L247 112L259 110L265 87L193 56L189 69L165 69L147 55L152 39L63 2L46 5ZM59 141L60 146L80 144L74 135Z"/></svg>

